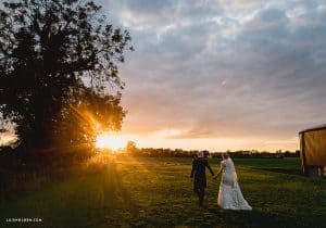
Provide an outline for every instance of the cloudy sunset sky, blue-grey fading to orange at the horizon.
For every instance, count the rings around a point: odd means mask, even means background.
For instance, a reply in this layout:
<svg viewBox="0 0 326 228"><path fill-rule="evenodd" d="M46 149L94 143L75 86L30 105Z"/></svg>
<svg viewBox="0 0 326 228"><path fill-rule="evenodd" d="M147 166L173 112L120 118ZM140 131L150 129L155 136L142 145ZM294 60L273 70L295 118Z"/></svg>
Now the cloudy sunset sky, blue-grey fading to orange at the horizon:
<svg viewBox="0 0 326 228"><path fill-rule="evenodd" d="M299 148L326 123L326 2L98 0L130 31L122 135L139 147Z"/></svg>

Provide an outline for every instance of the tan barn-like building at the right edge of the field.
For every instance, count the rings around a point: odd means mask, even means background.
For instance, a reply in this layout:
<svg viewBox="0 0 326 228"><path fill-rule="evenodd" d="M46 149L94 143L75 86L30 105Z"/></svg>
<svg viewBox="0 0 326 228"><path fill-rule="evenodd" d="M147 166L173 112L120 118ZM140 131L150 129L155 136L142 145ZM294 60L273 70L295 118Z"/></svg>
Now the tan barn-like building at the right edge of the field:
<svg viewBox="0 0 326 228"><path fill-rule="evenodd" d="M326 176L326 125L299 132L301 172L308 176Z"/></svg>

